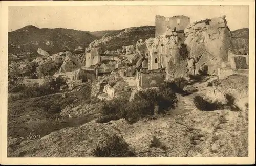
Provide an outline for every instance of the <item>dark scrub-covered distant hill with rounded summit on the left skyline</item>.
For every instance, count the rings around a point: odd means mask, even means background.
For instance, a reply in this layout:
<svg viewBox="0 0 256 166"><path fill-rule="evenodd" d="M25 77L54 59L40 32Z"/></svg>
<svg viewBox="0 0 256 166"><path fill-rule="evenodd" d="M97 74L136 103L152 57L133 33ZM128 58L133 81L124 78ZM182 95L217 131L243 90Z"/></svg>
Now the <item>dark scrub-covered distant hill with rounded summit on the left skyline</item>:
<svg viewBox="0 0 256 166"><path fill-rule="evenodd" d="M35 53L38 47L50 54L73 51L78 46L84 48L99 39L88 31L63 28L37 28L26 26L8 33L9 54Z"/></svg>

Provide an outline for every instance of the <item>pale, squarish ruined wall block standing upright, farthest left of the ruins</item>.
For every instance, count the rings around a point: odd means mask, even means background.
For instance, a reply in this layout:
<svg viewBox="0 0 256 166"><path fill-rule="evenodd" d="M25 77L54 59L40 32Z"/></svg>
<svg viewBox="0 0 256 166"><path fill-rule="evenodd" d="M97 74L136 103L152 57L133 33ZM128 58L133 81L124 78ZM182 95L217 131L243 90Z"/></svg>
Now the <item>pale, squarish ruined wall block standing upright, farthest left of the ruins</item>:
<svg viewBox="0 0 256 166"><path fill-rule="evenodd" d="M97 48L86 48L86 67L100 63L100 55L102 50Z"/></svg>

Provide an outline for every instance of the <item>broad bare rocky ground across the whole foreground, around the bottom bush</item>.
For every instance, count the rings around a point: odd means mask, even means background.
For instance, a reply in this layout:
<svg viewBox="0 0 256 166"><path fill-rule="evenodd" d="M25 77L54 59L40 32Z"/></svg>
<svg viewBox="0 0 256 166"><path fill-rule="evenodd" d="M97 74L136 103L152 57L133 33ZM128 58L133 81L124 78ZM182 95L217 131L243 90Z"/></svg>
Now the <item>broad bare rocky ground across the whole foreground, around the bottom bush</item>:
<svg viewBox="0 0 256 166"><path fill-rule="evenodd" d="M122 119L104 124L91 121L28 143L8 139L8 157L95 157L93 149L107 135L122 137L136 157L248 157L246 112L189 108L190 112L172 118L133 125Z"/></svg>

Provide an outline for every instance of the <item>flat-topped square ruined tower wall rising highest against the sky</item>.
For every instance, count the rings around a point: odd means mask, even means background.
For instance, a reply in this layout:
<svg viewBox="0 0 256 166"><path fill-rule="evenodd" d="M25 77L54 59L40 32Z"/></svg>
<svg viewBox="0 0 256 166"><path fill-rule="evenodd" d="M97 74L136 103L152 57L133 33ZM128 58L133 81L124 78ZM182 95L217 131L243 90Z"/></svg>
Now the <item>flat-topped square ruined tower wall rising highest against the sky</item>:
<svg viewBox="0 0 256 166"><path fill-rule="evenodd" d="M156 15L156 37L163 35L167 27L170 29L184 30L190 23L190 18L186 16L164 17Z"/></svg>

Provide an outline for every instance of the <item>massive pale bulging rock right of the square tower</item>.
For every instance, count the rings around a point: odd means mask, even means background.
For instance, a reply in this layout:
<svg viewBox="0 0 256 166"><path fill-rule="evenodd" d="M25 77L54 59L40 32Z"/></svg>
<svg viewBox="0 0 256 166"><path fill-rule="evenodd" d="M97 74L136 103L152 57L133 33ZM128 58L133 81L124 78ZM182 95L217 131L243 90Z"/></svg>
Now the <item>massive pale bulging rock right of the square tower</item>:
<svg viewBox="0 0 256 166"><path fill-rule="evenodd" d="M195 74L208 66L208 74L217 74L221 62L227 61L231 32L225 16L194 22L185 29L189 57L195 63Z"/></svg>

